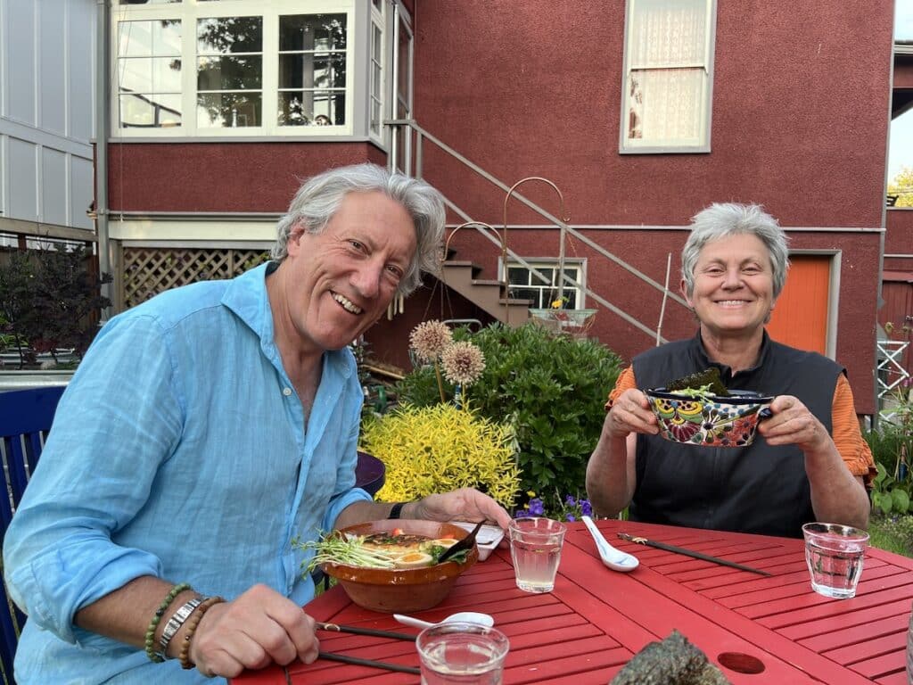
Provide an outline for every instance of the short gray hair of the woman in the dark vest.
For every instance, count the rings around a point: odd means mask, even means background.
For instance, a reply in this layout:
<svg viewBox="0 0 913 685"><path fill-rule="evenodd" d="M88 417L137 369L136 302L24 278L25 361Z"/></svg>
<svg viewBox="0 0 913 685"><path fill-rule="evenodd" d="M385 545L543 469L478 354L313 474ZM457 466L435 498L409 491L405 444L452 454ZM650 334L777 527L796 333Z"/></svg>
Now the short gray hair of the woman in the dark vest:
<svg viewBox="0 0 913 685"><path fill-rule="evenodd" d="M776 299L786 282L790 268L788 238L777 220L765 212L761 205L715 203L701 210L691 219L691 234L682 248L682 279L688 297L694 294L694 269L700 251L709 242L721 237L748 234L761 239L771 256L773 271L773 297Z"/></svg>

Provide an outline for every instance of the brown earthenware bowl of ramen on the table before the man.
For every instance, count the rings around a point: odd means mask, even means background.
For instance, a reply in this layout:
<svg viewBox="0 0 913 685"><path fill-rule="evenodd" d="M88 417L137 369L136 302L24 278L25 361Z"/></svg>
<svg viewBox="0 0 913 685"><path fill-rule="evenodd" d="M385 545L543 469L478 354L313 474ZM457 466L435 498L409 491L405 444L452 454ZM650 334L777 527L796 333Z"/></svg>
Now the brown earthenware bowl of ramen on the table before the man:
<svg viewBox="0 0 913 685"><path fill-rule="evenodd" d="M370 535L374 532L393 532L397 528L406 534L425 535L432 540L447 537L461 540L468 534L453 523L404 519L359 523L343 528L341 532ZM400 569L320 564L320 568L323 573L336 578L358 606L389 614L405 614L439 605L456 584L456 578L477 560L478 550L474 546L462 564L445 562Z"/></svg>

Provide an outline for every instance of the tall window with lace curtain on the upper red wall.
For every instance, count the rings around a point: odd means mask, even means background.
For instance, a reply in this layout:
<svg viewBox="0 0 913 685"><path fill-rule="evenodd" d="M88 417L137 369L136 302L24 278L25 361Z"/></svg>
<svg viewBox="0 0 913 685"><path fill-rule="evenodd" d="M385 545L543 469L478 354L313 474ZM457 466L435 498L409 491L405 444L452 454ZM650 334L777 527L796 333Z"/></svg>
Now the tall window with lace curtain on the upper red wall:
<svg viewBox="0 0 913 685"><path fill-rule="evenodd" d="M622 153L709 152L715 0L627 0Z"/></svg>

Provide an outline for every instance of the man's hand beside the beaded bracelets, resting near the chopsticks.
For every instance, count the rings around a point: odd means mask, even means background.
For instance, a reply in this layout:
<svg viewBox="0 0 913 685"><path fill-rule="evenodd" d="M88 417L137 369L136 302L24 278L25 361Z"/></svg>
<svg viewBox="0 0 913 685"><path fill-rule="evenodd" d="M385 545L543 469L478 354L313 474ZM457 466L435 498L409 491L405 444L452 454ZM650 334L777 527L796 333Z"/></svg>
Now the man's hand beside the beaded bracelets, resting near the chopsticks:
<svg viewBox="0 0 913 685"><path fill-rule="evenodd" d="M210 607L194 633L190 659L205 676L234 678L274 662L310 663L319 648L313 618L272 588L255 585L233 602Z"/></svg>

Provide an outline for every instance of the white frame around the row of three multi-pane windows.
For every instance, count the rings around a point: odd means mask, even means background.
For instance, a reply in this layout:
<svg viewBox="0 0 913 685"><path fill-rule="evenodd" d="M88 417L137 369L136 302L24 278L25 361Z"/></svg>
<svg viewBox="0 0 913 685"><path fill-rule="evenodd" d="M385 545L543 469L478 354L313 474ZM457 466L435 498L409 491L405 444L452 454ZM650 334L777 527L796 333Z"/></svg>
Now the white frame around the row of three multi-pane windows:
<svg viewBox="0 0 913 685"><path fill-rule="evenodd" d="M367 122L361 117L356 121L356 98L359 94L356 72L370 64L367 42L357 37L357 22L369 16L367 4L362 0L223 0L204 2L183 0L180 3L155 5L119 5L113 0L110 10L110 121L112 138L203 138L249 139L277 138L328 138L352 137L364 134ZM346 15L346 104L345 124L330 126L280 126L278 124L278 21L284 15L337 14ZM219 16L263 17L263 74L262 74L262 126L198 127L196 125L196 20ZM181 46L181 125L163 128L121 128L120 99L118 97L118 24L121 21L154 19L180 19L182 23ZM381 25L383 28L383 25ZM384 36L384 40L386 37ZM361 109L362 105L358 105Z"/></svg>

